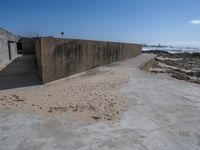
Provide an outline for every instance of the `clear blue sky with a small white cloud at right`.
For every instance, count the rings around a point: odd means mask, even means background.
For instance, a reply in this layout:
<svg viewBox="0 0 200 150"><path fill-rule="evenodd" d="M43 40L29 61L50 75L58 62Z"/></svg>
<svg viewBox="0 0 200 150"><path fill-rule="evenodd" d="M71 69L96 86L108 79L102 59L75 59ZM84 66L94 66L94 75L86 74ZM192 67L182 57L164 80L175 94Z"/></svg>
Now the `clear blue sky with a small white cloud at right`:
<svg viewBox="0 0 200 150"><path fill-rule="evenodd" d="M0 27L21 36L200 47L200 0L1 0Z"/></svg>

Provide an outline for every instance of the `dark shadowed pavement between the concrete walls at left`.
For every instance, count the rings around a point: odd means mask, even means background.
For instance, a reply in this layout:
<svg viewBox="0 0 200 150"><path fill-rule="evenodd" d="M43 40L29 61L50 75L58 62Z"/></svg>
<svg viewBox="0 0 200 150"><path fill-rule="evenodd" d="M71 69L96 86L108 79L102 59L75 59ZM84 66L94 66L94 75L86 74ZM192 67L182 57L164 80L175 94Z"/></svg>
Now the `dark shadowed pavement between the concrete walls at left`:
<svg viewBox="0 0 200 150"><path fill-rule="evenodd" d="M0 71L0 90L40 84L35 55L22 55Z"/></svg>

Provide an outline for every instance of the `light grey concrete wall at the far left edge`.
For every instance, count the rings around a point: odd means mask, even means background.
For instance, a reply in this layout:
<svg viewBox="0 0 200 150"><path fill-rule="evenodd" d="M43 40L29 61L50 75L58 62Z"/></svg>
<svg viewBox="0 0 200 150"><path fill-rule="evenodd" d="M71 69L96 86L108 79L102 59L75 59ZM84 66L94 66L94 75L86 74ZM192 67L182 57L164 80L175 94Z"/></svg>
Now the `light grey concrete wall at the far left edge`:
<svg viewBox="0 0 200 150"><path fill-rule="evenodd" d="M17 42L14 34L0 28L0 66L16 58Z"/></svg>

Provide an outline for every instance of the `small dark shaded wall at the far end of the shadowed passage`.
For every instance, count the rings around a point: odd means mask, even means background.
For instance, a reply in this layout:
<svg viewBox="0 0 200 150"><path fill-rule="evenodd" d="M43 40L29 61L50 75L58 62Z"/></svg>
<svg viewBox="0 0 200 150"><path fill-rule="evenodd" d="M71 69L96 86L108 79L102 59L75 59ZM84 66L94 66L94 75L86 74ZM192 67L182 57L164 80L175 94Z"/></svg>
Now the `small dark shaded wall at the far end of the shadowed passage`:
<svg viewBox="0 0 200 150"><path fill-rule="evenodd" d="M20 50L21 54L35 54L35 41L36 38L25 38L22 37L20 39L21 47Z"/></svg>

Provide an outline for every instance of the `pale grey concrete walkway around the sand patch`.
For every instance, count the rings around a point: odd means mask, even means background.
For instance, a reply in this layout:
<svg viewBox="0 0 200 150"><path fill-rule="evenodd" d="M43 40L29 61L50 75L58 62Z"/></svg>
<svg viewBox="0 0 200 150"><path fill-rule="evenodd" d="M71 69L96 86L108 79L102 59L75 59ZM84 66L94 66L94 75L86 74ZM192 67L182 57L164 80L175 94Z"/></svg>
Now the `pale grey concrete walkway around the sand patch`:
<svg viewBox="0 0 200 150"><path fill-rule="evenodd" d="M138 69L152 58L142 55L109 66L133 72L122 89L128 111L120 122L0 112L0 150L199 150L200 85Z"/></svg>

